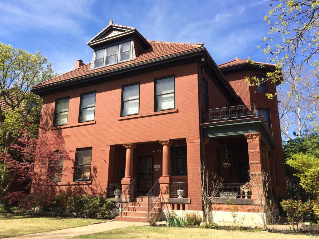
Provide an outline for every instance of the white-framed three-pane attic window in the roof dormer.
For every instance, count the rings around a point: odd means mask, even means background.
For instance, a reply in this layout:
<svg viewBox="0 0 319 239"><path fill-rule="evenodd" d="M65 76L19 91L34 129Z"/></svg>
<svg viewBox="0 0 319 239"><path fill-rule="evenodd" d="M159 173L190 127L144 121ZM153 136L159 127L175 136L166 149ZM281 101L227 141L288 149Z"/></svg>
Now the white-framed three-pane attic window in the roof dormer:
<svg viewBox="0 0 319 239"><path fill-rule="evenodd" d="M95 51L94 68L132 59L132 42L126 41Z"/></svg>

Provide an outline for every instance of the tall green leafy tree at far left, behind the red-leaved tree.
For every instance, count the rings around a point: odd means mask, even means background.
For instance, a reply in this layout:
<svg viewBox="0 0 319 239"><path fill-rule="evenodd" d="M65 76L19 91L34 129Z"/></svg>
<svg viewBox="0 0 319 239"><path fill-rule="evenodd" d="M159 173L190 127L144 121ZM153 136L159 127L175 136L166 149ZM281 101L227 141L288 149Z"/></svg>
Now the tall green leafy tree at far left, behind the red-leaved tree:
<svg viewBox="0 0 319 239"><path fill-rule="evenodd" d="M0 43L0 98L6 105L5 110L0 108L0 153L9 153L10 145L22 136L21 129L37 137L42 99L30 89L54 76L51 63L40 51L32 54ZM0 195L9 191L11 176L4 157L0 162Z"/></svg>

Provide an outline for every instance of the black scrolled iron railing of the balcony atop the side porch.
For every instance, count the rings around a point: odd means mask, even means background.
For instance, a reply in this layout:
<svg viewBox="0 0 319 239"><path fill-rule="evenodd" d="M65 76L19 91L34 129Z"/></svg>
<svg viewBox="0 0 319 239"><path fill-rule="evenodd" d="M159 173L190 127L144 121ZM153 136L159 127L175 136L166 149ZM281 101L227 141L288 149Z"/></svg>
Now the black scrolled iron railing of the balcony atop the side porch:
<svg viewBox="0 0 319 239"><path fill-rule="evenodd" d="M236 105L223 108L203 110L203 120L233 120L237 118L261 117L255 104Z"/></svg>

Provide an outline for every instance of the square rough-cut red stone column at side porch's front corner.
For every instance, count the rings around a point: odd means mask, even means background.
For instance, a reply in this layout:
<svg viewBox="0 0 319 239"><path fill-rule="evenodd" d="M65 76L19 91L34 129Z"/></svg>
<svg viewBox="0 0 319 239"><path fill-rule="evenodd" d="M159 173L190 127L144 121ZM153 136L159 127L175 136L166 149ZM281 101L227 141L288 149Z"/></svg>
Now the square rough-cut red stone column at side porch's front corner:
<svg viewBox="0 0 319 239"><path fill-rule="evenodd" d="M260 133L245 134L248 145L249 171L251 181L251 199L256 199L256 195L263 192L262 165L260 152Z"/></svg>

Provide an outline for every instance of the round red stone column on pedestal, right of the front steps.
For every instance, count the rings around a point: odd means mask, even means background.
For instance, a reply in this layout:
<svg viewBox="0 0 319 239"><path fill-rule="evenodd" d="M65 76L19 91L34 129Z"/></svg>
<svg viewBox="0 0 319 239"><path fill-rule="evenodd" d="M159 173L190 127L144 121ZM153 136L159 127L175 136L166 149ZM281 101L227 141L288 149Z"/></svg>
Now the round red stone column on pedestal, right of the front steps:
<svg viewBox="0 0 319 239"><path fill-rule="evenodd" d="M162 176L159 178L160 193L163 198L169 198L170 196L170 178L171 178L171 153L170 145L172 141L170 140L160 140L159 143L163 145L163 171Z"/></svg>

